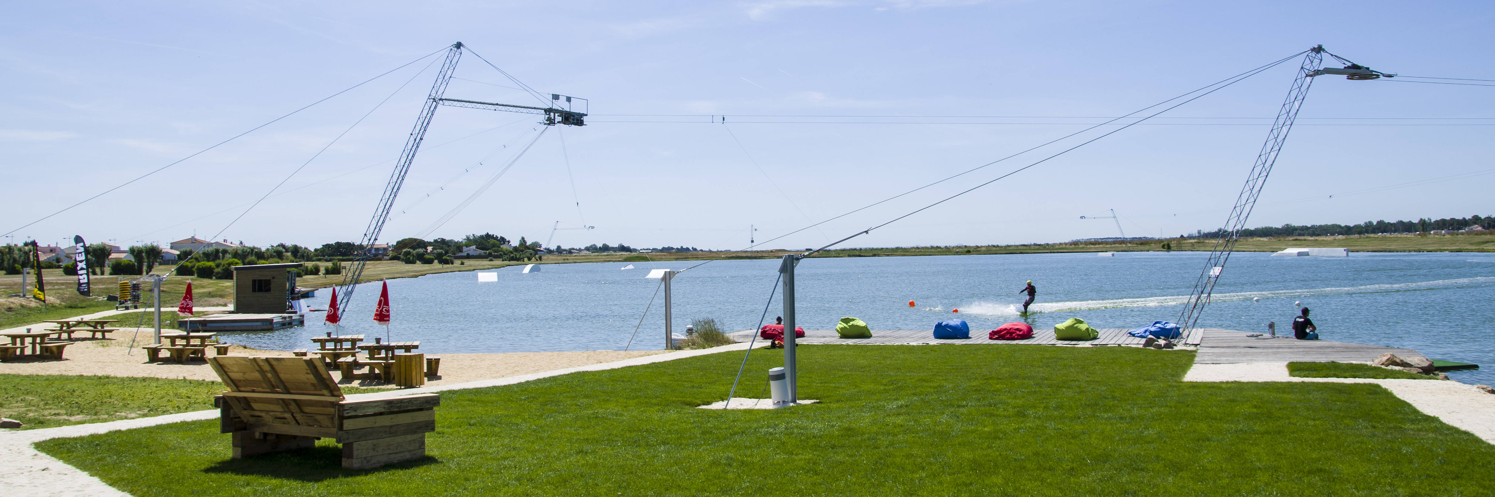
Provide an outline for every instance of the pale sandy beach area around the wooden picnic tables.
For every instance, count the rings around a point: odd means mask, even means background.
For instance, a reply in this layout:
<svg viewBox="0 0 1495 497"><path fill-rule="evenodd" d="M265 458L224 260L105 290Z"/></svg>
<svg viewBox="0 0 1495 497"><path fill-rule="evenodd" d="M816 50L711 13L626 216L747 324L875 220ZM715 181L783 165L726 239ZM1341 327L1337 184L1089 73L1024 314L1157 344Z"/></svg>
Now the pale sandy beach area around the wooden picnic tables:
<svg viewBox="0 0 1495 497"><path fill-rule="evenodd" d="M142 332L138 346L151 341L150 332ZM63 353L63 359L34 359L31 356L0 362L0 374L85 374L85 376L138 376L191 380L218 380L203 361L176 364L172 361L147 362L145 350L129 347L130 335L108 340L82 340ZM583 350L583 352L514 352L514 353L440 353L441 376L428 377L426 385L440 386L472 380L531 374L559 368L571 368L599 362L664 353L667 350ZM209 356L212 349L208 350ZM290 356L284 350L259 350L232 346L229 355ZM339 377L332 371L332 377ZM341 380L341 385L383 386L381 382Z"/></svg>

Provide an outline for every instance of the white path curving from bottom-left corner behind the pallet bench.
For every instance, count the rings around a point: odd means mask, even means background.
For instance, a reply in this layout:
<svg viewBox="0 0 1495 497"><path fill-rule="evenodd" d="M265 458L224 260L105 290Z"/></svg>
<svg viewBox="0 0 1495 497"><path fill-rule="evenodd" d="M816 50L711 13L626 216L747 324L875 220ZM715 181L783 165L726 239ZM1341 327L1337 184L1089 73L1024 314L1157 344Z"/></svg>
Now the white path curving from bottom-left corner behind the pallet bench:
<svg viewBox="0 0 1495 497"><path fill-rule="evenodd" d="M767 346L767 343L759 343L759 347ZM694 358L709 353L748 350L746 343L737 343L730 346L721 346L713 349L701 350L680 350L649 355L641 358L591 364L574 368L543 371L534 374L520 374L499 379L487 379L456 385L429 386L429 388L411 388L389 392L375 394L357 394L348 395L350 400L360 398L387 398L401 395L416 395L416 394L434 394L443 391L468 389L468 388L487 388L499 385L514 385L529 380L538 380L543 377L570 374L577 371L601 371L601 370L616 370L629 365L643 365L652 362L674 361L683 358ZM1492 395L1495 397L1495 395ZM736 407L736 406L734 406ZM4 497L30 497L30 496L58 496L58 497L123 497L129 496L114 487L109 487L103 481L93 478L91 475L67 466L46 454L37 452L31 448L33 443L49 440L49 439L67 439L67 437L84 437L91 434L100 434L115 430L135 430L154 425L164 425L172 422L184 421L202 421L218 418L218 410L199 410L190 413L176 413L154 418L141 419L123 419L99 424L72 425L72 427L57 427L43 430L0 430L0 490L3 490ZM227 440L224 440L227 443Z"/></svg>

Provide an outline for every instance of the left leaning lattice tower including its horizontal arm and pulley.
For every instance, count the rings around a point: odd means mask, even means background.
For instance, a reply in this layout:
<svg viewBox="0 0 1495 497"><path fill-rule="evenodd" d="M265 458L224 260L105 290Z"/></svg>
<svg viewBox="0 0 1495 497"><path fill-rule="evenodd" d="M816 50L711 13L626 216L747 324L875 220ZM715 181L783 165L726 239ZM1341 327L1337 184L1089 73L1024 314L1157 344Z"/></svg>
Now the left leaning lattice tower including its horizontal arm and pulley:
<svg viewBox="0 0 1495 497"><path fill-rule="evenodd" d="M420 115L416 118L416 127L405 139L405 148L399 153L399 160L395 162L395 171L389 174L389 183L384 184L384 195L380 198L378 207L374 208L374 217L369 219L368 229L363 231L363 238L359 243L359 257L348 263L348 271L342 275L342 281L338 283L338 286L342 286L342 301L338 302L341 308L348 308L348 302L353 301L353 290L357 287L359 277L363 275L363 268L368 263L369 256L372 256L374 243L378 241L380 234L384 231L384 223L389 222L389 214L395 208L395 198L399 196L401 186L405 184L405 175L410 174L410 165L416 162L416 153L420 151L420 142L426 139L426 130L431 129L431 118L437 114L438 105L543 114L546 120L541 124L546 126L555 126L558 123L567 126L586 126L585 118L589 102L586 99L574 99L564 94L552 93L552 105L549 108L447 99L447 84L451 82L451 73L457 69L457 60L462 58L462 42L456 42L447 49L446 60L441 63L441 70L437 72L437 81L431 85L431 94L426 96L426 103L422 106Z"/></svg>

